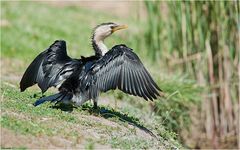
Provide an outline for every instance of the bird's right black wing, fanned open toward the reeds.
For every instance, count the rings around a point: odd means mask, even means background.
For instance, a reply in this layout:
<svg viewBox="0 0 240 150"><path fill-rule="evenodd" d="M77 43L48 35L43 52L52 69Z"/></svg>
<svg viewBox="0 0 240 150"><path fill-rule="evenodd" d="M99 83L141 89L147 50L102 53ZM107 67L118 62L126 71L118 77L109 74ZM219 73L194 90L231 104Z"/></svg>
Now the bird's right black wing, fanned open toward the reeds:
<svg viewBox="0 0 240 150"><path fill-rule="evenodd" d="M138 56L125 45L114 46L95 63L91 74L95 81L89 87L91 98L99 92L118 88L145 100L153 100L161 91Z"/></svg>

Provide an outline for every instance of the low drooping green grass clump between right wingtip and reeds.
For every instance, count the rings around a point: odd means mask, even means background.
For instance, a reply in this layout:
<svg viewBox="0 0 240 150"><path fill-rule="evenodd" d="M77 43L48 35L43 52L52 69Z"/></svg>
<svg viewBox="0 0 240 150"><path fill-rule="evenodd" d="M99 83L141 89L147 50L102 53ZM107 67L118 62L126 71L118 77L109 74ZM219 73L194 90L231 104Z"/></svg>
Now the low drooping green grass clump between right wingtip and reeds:
<svg viewBox="0 0 240 150"><path fill-rule="evenodd" d="M183 77L162 80L160 83L166 97L157 101L154 110L162 117L162 124L167 129L180 135L182 129L191 123L190 108L199 105L202 89L193 80Z"/></svg>

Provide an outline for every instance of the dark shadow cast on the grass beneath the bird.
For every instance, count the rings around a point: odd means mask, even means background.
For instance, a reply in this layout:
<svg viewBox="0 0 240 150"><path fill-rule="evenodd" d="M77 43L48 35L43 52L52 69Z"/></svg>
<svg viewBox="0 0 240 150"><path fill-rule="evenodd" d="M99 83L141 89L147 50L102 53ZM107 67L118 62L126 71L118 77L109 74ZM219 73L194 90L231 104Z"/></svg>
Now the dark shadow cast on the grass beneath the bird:
<svg viewBox="0 0 240 150"><path fill-rule="evenodd" d="M72 112L74 108L77 108L72 105L64 105L64 104L59 104L52 106L54 109L61 109L62 111L67 111L67 112ZM157 138L156 135L152 133L149 129L144 127L139 123L139 119L134 118L132 116L129 116L127 114L124 114L122 112L116 111L112 108L105 108L105 107L98 107L98 109L93 109L93 107L89 104L84 104L80 107L81 110L83 111L88 111L90 114L95 114L95 115L100 115L101 117L108 119L108 118L117 118L119 121L126 122L130 125L133 125L144 132L150 134L152 137Z"/></svg>

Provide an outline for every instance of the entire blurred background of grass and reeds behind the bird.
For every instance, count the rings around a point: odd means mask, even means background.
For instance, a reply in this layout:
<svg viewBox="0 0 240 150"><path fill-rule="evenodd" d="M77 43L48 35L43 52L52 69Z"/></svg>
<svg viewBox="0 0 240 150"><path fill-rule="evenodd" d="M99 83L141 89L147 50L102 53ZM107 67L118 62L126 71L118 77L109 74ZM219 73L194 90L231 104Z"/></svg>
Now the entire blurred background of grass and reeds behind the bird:
<svg viewBox="0 0 240 150"><path fill-rule="evenodd" d="M165 92L150 104L156 122L186 147L240 148L239 1L122 3L1 2L1 63L14 68L4 67L10 71L1 80L17 84L29 62L56 39L67 41L72 57L92 55L94 26L126 23L128 31L106 44L133 48ZM149 105L112 94L134 106Z"/></svg>

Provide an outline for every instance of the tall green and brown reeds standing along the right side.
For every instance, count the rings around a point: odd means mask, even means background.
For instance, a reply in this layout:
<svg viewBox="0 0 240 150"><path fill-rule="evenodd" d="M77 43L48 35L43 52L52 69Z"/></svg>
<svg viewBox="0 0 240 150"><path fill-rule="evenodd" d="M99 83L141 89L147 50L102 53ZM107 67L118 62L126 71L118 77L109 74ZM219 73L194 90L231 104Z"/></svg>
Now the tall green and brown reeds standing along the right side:
<svg viewBox="0 0 240 150"><path fill-rule="evenodd" d="M232 139L240 148L239 1L146 1L145 7L148 28L140 40L151 60L189 75L204 89L199 132L212 147Z"/></svg>

